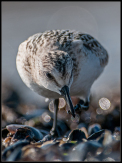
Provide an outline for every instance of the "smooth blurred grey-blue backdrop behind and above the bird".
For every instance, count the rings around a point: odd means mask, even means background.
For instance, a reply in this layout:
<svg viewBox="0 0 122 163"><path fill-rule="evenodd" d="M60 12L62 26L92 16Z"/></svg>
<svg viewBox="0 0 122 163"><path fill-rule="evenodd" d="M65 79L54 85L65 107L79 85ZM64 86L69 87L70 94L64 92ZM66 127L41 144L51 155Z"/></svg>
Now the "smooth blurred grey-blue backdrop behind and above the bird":
<svg viewBox="0 0 122 163"><path fill-rule="evenodd" d="M50 29L75 29L98 39L109 63L91 93L109 99L120 94L120 2L2 2L3 85L15 89L23 102L45 105L21 80L16 55L21 42Z"/></svg>

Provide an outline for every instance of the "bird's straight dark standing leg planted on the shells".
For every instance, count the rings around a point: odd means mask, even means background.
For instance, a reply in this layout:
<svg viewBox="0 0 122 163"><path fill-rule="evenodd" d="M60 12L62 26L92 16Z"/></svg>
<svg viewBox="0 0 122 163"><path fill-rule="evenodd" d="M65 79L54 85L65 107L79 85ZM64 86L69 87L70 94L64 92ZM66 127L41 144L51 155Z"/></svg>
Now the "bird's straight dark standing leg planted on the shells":
<svg viewBox="0 0 122 163"><path fill-rule="evenodd" d="M57 125L57 112L58 112L58 105L59 105L59 99L54 100L54 119L53 119L53 127L50 130L50 133L46 135L42 142L51 140L52 138L56 137L56 125Z"/></svg>

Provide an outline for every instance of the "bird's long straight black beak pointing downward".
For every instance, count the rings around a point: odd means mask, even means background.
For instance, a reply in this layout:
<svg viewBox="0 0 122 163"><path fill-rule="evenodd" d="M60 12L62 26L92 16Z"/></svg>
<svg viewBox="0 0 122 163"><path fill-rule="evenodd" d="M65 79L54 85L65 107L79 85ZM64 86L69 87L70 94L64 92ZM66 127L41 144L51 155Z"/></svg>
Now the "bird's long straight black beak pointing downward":
<svg viewBox="0 0 122 163"><path fill-rule="evenodd" d="M71 101L71 98L70 98L70 95L69 95L69 87L65 85L61 89L61 94L65 97L67 103L70 106L70 110L71 110L72 116L75 118L74 107L73 107L73 104L72 104L72 101Z"/></svg>

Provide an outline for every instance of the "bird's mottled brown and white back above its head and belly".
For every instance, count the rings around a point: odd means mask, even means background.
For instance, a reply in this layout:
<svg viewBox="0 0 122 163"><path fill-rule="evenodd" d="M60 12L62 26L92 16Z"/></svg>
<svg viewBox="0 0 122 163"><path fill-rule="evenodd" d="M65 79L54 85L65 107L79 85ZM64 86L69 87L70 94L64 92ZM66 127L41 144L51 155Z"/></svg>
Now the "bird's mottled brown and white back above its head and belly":
<svg viewBox="0 0 122 163"><path fill-rule="evenodd" d="M108 62L108 54L104 47L91 35L74 30L49 30L35 34L26 40L26 49L35 54L43 51L61 50L68 52L75 62L75 55L95 55L100 59L100 65ZM81 53L82 51L82 53Z"/></svg>

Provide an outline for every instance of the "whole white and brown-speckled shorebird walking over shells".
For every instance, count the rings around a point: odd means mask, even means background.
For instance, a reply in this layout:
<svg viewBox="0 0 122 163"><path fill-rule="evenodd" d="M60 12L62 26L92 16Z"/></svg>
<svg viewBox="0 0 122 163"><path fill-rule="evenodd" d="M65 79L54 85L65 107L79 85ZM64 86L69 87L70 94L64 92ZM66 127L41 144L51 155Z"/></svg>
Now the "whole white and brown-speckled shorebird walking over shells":
<svg viewBox="0 0 122 163"><path fill-rule="evenodd" d="M54 98L54 135L59 97L64 97L75 117L87 110L90 88L108 63L105 48L91 35L75 30L48 30L22 42L16 65L23 82L34 92ZM73 106L71 96L80 98Z"/></svg>

